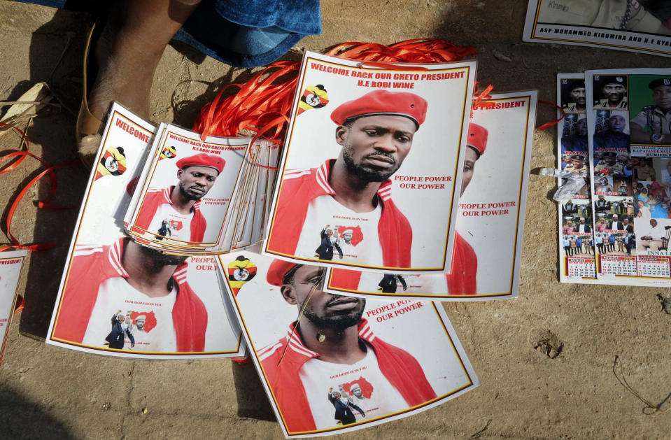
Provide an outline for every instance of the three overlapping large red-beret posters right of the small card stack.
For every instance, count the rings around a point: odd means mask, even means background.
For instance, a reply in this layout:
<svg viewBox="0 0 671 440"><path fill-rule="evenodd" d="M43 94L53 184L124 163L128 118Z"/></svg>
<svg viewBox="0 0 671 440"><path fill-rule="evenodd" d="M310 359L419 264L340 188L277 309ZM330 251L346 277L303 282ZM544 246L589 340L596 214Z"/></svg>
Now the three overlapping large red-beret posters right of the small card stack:
<svg viewBox="0 0 671 440"><path fill-rule="evenodd" d="M537 94L471 108L474 63L415 67L308 52L262 254L217 257L286 437L471 390L431 300L517 295Z"/></svg>

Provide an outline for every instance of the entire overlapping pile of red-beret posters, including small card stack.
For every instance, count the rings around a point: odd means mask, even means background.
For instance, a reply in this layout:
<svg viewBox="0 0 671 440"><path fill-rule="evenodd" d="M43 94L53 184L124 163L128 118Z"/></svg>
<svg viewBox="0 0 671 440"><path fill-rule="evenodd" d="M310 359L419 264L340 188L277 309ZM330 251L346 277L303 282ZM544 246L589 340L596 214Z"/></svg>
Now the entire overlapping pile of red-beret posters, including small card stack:
<svg viewBox="0 0 671 440"><path fill-rule="evenodd" d="M287 437L472 390L432 301L517 296L537 104L532 90L473 106L475 73L306 52L283 150L115 104L48 343L248 353Z"/></svg>

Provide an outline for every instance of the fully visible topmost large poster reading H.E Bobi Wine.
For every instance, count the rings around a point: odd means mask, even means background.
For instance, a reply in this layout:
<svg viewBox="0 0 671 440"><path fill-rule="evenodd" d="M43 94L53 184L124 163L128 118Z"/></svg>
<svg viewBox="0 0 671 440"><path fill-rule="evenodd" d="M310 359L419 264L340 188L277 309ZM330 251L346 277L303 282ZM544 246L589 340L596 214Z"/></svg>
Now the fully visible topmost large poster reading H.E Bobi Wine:
<svg viewBox="0 0 671 440"><path fill-rule="evenodd" d="M448 272L475 73L306 52L264 255Z"/></svg>

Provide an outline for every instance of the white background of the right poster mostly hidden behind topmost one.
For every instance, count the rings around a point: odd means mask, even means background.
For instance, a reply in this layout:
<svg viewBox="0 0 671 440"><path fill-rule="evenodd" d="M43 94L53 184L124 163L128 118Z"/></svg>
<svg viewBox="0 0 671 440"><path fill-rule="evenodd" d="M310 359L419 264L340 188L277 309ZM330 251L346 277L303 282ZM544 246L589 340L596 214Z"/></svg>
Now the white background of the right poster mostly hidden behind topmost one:
<svg viewBox="0 0 671 440"><path fill-rule="evenodd" d="M492 94L491 99L483 100L485 106L520 102L522 106L479 107L473 111L471 122L488 130L488 140L484 154L476 161L472 179L459 199L457 232L477 255L476 295L448 292L444 274L405 275L408 289L402 290L399 286L394 294L378 290L380 274L366 272L361 273L359 292L339 290L332 281L327 283L326 290L357 296L374 294L444 301L516 297L537 91ZM514 202L514 206L501 206L507 202ZM507 213L495 214L502 211ZM483 215L485 212L490 215ZM331 269L336 270L342 269Z"/></svg>

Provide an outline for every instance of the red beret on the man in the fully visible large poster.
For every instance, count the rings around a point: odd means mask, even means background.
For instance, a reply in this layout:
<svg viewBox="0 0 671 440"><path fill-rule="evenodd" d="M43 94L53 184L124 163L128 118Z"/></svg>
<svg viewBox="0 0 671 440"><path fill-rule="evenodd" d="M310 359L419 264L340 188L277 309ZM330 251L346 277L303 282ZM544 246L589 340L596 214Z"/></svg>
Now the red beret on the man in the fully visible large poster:
<svg viewBox="0 0 671 440"><path fill-rule="evenodd" d="M350 118L373 115L397 115L405 116L415 122L417 128L423 124L426 118L427 102L422 97L408 92L387 92L386 90L374 90L362 97L340 104L333 113L331 119L337 125Z"/></svg>

